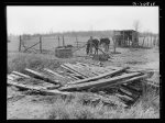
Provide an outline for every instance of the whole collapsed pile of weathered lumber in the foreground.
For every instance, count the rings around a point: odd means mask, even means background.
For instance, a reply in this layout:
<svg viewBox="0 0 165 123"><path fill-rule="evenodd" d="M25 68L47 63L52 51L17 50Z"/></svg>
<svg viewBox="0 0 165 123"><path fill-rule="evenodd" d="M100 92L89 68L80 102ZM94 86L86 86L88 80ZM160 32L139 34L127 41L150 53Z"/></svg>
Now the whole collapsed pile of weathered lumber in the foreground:
<svg viewBox="0 0 165 123"><path fill-rule="evenodd" d="M91 64L63 64L57 69L40 71L25 68L8 75L8 85L36 90L48 94L72 94L77 91L113 94L124 104L133 104L144 92L144 79L148 72L129 67L99 67Z"/></svg>

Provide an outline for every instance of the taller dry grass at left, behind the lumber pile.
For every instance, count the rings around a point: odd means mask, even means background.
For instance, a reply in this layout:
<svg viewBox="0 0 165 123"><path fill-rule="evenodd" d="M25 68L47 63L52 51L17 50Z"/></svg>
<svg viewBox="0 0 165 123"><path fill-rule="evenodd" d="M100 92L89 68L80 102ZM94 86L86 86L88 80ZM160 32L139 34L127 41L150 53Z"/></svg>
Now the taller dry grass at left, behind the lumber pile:
<svg viewBox="0 0 165 123"><path fill-rule="evenodd" d="M37 54L9 54L8 55L8 72L13 70L23 71L24 68L57 68L59 66L59 62L57 62L53 57L41 57Z"/></svg>

